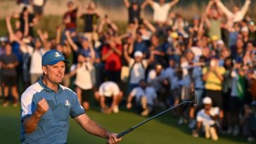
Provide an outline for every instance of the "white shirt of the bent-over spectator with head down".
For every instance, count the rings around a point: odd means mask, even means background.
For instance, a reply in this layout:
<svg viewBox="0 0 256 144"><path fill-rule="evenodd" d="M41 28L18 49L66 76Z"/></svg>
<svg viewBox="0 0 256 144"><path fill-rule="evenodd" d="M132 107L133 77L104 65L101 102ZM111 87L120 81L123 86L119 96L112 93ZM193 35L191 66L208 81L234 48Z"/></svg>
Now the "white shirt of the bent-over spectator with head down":
<svg viewBox="0 0 256 144"><path fill-rule="evenodd" d="M98 89L98 93L100 94L100 96L104 96L104 87L108 86L108 89L110 89L112 95L111 96L107 96L107 97L112 97L112 96L117 96L120 93L120 89L117 86L117 84L115 84L115 82L113 81L105 81L103 82L103 84L101 84L100 88Z"/></svg>

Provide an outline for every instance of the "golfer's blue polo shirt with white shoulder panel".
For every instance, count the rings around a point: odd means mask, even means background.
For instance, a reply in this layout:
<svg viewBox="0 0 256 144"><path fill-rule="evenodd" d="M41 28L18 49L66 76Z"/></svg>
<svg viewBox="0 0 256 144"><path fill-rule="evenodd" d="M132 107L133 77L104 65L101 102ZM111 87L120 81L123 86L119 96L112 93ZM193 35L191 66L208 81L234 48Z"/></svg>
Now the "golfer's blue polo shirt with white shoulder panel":
<svg viewBox="0 0 256 144"><path fill-rule="evenodd" d="M25 133L23 120L37 110L37 103L42 98L49 104L49 110L41 117L35 131ZM40 79L21 96L21 143L66 143L69 116L74 118L80 114L84 114L84 108L79 104L74 91L59 85L55 92Z"/></svg>

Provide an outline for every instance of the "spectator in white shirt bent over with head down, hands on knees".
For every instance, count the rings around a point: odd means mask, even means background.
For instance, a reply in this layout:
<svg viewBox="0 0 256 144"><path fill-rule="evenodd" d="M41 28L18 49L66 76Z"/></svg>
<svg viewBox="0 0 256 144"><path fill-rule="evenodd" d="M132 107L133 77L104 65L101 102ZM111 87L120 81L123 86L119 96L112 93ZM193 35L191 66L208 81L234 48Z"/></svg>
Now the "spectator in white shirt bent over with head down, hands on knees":
<svg viewBox="0 0 256 144"><path fill-rule="evenodd" d="M123 93L119 86L113 81L105 81L94 94L101 105L101 112L119 112L118 105L122 100ZM110 106L110 107L109 107Z"/></svg>

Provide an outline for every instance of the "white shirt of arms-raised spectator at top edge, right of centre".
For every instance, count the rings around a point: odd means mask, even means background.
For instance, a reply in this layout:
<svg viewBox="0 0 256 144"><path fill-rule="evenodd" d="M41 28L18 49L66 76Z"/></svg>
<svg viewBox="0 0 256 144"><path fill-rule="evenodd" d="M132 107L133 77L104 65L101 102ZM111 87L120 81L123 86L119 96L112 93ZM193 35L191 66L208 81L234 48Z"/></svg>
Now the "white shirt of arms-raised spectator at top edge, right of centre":
<svg viewBox="0 0 256 144"><path fill-rule="evenodd" d="M157 2L153 2L153 21L165 22L167 20L170 9L171 6L168 3L160 6L160 4L158 4Z"/></svg>

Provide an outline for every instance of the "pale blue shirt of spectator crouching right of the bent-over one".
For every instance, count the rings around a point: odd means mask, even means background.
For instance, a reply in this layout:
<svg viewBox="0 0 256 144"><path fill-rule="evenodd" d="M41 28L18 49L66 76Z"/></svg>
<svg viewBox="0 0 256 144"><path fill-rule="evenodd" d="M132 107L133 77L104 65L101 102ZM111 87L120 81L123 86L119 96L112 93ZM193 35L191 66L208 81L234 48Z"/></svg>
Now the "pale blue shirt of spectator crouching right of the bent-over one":
<svg viewBox="0 0 256 144"><path fill-rule="evenodd" d="M139 102L141 96L146 96L148 105L154 105L154 100L157 98L155 89L151 86L146 87L145 90L141 89L141 87L136 87L132 90L131 95L135 96L136 102Z"/></svg>

